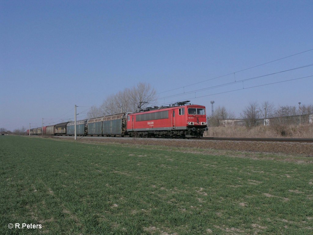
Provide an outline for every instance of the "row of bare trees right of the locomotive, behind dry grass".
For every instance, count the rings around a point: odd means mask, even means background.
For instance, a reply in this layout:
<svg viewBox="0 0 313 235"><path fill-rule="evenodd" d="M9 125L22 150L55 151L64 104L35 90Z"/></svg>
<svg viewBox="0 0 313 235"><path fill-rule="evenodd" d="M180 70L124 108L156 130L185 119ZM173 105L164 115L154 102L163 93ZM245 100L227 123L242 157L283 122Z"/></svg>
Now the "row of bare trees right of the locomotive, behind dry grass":
<svg viewBox="0 0 313 235"><path fill-rule="evenodd" d="M258 102L250 102L243 110L243 115L240 115L245 120L247 127L259 125L260 119L268 119L275 117L287 117L295 115L306 115L313 113L313 105L299 106L280 106L275 108L274 104L265 101L261 104ZM208 117L211 126L225 126L227 121L234 119L235 114L228 111L224 106L218 106L213 114ZM263 121L262 121L263 122ZM265 122L266 123L266 122Z"/></svg>

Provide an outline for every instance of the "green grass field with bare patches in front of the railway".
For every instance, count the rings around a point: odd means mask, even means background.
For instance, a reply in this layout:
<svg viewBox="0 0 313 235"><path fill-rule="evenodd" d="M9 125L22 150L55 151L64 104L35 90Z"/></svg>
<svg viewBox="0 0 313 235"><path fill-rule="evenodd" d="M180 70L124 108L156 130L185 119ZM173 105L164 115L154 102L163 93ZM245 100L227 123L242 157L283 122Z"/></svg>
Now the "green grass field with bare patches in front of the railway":
<svg viewBox="0 0 313 235"><path fill-rule="evenodd" d="M0 234L313 233L312 164L192 151L1 136Z"/></svg>

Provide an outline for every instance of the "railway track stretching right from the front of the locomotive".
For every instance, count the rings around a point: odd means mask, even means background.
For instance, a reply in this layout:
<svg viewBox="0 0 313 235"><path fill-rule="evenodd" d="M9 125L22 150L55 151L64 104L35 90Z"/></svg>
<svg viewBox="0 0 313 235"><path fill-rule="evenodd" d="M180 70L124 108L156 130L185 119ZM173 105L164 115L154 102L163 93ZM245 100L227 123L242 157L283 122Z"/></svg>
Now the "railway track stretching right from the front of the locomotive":
<svg viewBox="0 0 313 235"><path fill-rule="evenodd" d="M262 141L262 142L301 142L313 143L313 138L219 138L219 137L202 137L196 138L202 140L230 140L230 141Z"/></svg>

